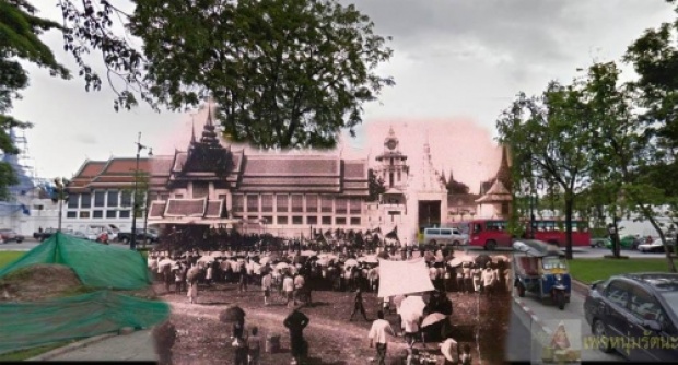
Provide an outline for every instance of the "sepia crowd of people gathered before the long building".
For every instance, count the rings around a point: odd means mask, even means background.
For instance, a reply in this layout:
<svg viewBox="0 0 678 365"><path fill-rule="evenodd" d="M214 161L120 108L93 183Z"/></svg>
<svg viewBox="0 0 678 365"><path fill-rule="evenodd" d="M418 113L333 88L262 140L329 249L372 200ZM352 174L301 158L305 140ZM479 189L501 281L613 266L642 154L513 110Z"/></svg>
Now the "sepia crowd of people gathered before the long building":
<svg viewBox="0 0 678 365"><path fill-rule="evenodd" d="M294 362L304 358L308 343L303 338L303 328L308 318L301 313L301 306L312 305L312 292L318 290L351 291L354 294L351 321L355 315L369 321L363 293L378 289L378 259L408 260L416 256L416 250L397 245L376 245L373 249L367 245L342 244L327 246L324 243L309 240L280 240L276 245L264 244L261 236L241 236L249 244L230 245L243 249L223 251L162 250L151 252L149 268L155 279L163 281L167 292L186 293L189 303L198 303L199 287L209 287L214 283L237 284L239 291L248 291L256 286L262 292L264 305L282 301L293 308L284 321L290 330L292 355ZM165 246L166 248L166 246ZM467 364L470 353L451 337L449 328L435 328L431 333L421 328L421 320L428 314L440 313L452 315L453 304L447 293L483 293L487 295L508 294L512 289L510 264L506 260L466 260L453 262L454 252L446 249L418 247L419 257L425 259L430 279L435 291L426 295L426 307L419 320L401 320L399 303L407 296L387 297L383 301L382 310L372 325L369 333L371 346L376 346L375 361L385 364L386 335L401 335L408 344L407 354L397 356L401 364L417 363L414 349L417 341L442 341L442 353L456 354L445 356L447 364ZM457 251L458 252L458 251ZM484 256L484 255L481 255ZM173 287L174 286L174 287ZM385 315L395 313L398 326L396 331L385 320ZM359 318L360 318L359 317ZM253 328L250 334L242 328L234 328L235 364L258 364L260 339L258 329ZM454 344L454 351L448 348ZM245 349L245 350L243 350ZM454 360L449 360L454 358Z"/></svg>

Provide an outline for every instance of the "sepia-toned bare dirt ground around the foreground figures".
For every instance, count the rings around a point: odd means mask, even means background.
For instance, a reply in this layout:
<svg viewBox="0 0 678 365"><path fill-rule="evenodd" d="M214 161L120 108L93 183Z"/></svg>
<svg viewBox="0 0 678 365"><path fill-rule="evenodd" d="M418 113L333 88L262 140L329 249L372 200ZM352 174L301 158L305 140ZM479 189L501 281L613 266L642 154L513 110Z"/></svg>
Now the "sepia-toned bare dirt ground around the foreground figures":
<svg viewBox="0 0 678 365"><path fill-rule="evenodd" d="M217 284L200 287L198 304L189 304L185 294L167 293L162 284L154 286L160 297L172 305L172 322L177 329L174 345L175 364L227 364L234 358L231 346L231 327L219 321L219 313L230 305L238 305L246 311L245 326L259 328L262 339L279 334L281 351L262 353L261 364L289 364L290 342L282 321L290 313L283 303L264 306L259 287L238 293L235 284ZM453 337L460 344L471 345L475 364L502 364L504 362L504 338L508 329L511 297L487 297L478 294L449 293L454 305ZM370 349L367 332L371 321L362 317L349 321L353 295L348 292L314 292L314 305L302 311L311 323L304 331L309 344L309 364L369 364L375 355ZM378 303L375 293L364 294L370 320L376 318ZM359 316L356 316L358 318ZM387 315L395 328L396 316ZM264 340L265 341L265 340ZM406 349L402 338L388 344L390 358ZM428 343L437 349L439 343ZM418 343L416 348L421 348ZM437 351L440 353L440 351Z"/></svg>

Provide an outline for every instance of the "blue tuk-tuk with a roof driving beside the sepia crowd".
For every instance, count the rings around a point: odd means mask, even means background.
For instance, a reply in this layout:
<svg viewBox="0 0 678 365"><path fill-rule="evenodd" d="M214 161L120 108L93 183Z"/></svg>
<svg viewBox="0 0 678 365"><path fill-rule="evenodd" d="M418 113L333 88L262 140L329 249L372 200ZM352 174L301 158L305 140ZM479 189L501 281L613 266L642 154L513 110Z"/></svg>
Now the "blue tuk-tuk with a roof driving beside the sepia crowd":
<svg viewBox="0 0 678 365"><path fill-rule="evenodd" d="M536 294L539 299L550 298L560 309L570 303L572 282L565 256L557 246L536 239L522 239L513 244L513 286L518 296Z"/></svg>

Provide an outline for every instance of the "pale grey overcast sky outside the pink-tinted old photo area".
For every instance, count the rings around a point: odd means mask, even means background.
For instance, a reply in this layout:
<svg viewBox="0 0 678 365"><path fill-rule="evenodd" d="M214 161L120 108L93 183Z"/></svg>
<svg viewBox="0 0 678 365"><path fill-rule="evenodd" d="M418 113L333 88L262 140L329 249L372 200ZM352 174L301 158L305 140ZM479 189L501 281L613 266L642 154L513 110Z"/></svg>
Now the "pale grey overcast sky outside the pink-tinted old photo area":
<svg viewBox="0 0 678 365"><path fill-rule="evenodd" d="M52 8L56 1L34 4L44 16L59 16ZM644 30L675 17L670 5L659 0L358 0L355 4L372 17L379 34L394 37L394 57L379 71L397 83L384 92L381 103L366 106L365 123L359 129L362 137L371 123L397 119L411 126L435 119L470 121L486 129L491 141L498 115L516 93L540 93L549 80L568 82L577 68L594 60L619 60ZM58 60L73 67L60 34L47 34L44 40ZM116 113L108 91L86 93L79 79L62 81L44 70L28 70L31 86L16 101L13 115L35 123L26 132L28 152L43 177L69 177L85 158L132 156L138 132L156 154L186 146L189 114L156 114L143 105ZM369 150L365 138L347 143L344 150L353 146L358 154ZM460 157L437 158L445 165L444 158Z"/></svg>

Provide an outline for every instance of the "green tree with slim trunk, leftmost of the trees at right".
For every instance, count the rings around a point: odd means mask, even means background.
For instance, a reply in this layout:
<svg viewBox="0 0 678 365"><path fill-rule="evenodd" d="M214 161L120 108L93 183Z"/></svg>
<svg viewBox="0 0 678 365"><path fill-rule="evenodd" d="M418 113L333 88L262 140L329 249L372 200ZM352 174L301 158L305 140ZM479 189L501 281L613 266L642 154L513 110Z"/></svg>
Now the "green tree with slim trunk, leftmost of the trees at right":
<svg viewBox="0 0 678 365"><path fill-rule="evenodd" d="M581 93L574 85L557 82L549 83L539 97L518 94L496 121L500 142L514 152L514 196L531 197L545 184L558 185L563 191L569 259L574 203L591 173L587 121Z"/></svg>

